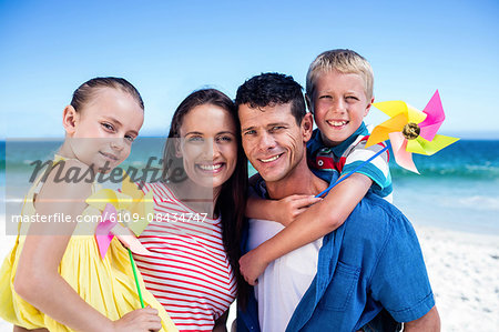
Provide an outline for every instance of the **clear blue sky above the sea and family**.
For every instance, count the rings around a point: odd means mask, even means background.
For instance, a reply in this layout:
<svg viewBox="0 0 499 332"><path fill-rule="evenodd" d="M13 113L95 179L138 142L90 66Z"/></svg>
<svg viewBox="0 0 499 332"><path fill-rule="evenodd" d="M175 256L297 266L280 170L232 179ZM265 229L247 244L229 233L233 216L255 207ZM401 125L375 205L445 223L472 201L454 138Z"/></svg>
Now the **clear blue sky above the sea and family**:
<svg viewBox="0 0 499 332"><path fill-rule="evenodd" d="M191 91L234 98L266 71L304 84L335 48L370 61L376 101L422 110L439 89L442 133L499 138L499 2L405 2L0 1L0 138L62 137L64 105L96 76L135 84L142 133L164 134Z"/></svg>

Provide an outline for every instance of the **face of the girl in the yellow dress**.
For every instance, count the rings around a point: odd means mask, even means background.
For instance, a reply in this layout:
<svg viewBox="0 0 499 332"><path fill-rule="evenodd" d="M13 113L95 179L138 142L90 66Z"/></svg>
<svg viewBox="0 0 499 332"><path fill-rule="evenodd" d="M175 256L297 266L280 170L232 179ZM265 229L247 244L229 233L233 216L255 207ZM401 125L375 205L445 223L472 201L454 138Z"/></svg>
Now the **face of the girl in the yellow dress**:
<svg viewBox="0 0 499 332"><path fill-rule="evenodd" d="M144 121L144 111L132 95L101 88L83 109L71 109L64 110L64 128L78 160L106 173L129 157Z"/></svg>

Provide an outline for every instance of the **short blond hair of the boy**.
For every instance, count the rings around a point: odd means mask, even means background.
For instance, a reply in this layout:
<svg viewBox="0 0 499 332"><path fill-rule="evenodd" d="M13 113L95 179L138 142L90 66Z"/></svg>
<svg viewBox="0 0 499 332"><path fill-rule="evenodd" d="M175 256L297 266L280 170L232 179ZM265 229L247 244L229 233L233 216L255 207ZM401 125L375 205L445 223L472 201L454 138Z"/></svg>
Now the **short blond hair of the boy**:
<svg viewBox="0 0 499 332"><path fill-rule="evenodd" d="M369 62L352 50L332 50L319 54L310 63L307 72L306 92L313 98L315 82L322 72L337 70L342 73L356 73L364 80L367 100L373 98L374 74Z"/></svg>

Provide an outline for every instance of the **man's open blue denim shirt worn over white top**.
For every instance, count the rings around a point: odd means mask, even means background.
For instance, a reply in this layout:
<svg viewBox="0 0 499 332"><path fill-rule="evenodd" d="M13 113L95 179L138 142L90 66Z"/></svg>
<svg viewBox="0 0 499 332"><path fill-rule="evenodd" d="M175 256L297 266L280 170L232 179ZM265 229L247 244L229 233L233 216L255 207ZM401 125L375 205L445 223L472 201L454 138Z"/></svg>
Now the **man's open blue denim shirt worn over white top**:
<svg viewBox="0 0 499 332"><path fill-rule="evenodd" d="M242 245L246 252L245 241ZM347 221L324 237L317 274L286 331L357 331L383 309L398 322L408 322L434 305L410 222L394 205L367 193ZM237 315L237 331L259 331L254 298Z"/></svg>

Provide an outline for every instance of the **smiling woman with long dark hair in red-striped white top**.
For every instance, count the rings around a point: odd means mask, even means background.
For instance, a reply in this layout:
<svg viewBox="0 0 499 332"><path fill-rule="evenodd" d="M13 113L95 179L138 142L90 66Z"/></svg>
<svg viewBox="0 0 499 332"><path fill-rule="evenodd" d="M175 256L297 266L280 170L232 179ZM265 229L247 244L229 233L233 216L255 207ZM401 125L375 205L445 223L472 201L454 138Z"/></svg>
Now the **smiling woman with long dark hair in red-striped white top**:
<svg viewBox="0 0 499 332"><path fill-rule="evenodd" d="M136 255L136 263L181 331L225 331L236 296L247 183L240 131L227 95L191 93L172 119L164 179L144 184L155 220L140 241L153 254Z"/></svg>

